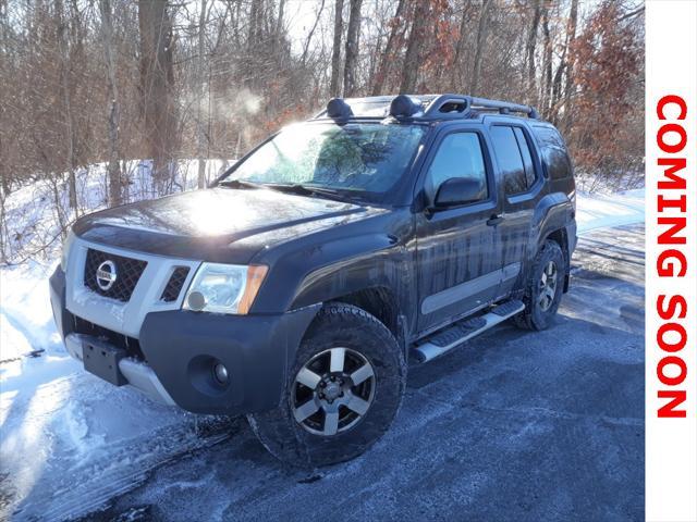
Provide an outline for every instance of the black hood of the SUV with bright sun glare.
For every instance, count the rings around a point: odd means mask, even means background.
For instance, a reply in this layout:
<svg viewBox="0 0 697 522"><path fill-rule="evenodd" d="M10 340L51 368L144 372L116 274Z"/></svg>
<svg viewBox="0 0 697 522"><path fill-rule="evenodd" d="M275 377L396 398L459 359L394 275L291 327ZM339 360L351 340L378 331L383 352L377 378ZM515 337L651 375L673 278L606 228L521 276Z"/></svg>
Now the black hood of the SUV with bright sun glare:
<svg viewBox="0 0 697 522"><path fill-rule="evenodd" d="M288 240L371 212L358 204L270 189L212 188L96 212L77 220L73 231L85 240L129 250L246 263L270 246L254 241L254 236Z"/></svg>

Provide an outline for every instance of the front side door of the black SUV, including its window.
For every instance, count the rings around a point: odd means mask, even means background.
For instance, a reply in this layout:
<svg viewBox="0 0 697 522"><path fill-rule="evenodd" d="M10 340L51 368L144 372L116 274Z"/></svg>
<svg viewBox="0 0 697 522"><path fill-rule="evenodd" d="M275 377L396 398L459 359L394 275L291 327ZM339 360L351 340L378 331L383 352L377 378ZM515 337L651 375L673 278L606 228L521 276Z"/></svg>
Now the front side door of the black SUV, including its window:
<svg viewBox="0 0 697 522"><path fill-rule="evenodd" d="M443 132L427 160L424 190L433 200L452 177L477 179L478 201L426 210L416 217L418 331L433 330L454 318L486 307L501 281L497 196L486 138L476 126Z"/></svg>

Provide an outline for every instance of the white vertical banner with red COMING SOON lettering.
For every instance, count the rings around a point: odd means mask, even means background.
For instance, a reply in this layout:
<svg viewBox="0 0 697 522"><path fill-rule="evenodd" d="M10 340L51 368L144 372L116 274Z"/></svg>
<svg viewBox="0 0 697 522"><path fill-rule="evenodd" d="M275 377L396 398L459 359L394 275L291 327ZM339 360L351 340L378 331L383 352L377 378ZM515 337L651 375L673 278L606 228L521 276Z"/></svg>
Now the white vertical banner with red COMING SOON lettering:
<svg viewBox="0 0 697 522"><path fill-rule="evenodd" d="M697 1L646 3L646 520L697 521Z"/></svg>

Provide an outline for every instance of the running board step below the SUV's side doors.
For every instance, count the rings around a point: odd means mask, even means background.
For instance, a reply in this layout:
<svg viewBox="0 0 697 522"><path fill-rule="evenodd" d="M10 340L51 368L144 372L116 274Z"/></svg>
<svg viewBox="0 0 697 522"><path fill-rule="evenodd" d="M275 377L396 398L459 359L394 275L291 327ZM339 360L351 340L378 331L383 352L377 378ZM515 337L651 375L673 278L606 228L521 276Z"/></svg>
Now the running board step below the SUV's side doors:
<svg viewBox="0 0 697 522"><path fill-rule="evenodd" d="M412 352L418 362L428 362L453 348L457 348L465 340L476 337L523 310L525 310L523 301L511 300L502 302L482 315L458 321L445 330L427 337Z"/></svg>

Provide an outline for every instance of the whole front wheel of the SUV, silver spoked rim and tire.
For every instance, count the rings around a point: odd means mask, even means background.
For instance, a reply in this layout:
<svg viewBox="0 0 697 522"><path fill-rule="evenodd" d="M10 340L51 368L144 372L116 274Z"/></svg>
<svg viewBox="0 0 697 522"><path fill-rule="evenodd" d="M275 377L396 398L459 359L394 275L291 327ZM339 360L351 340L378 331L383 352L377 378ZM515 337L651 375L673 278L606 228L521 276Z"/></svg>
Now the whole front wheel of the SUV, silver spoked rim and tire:
<svg viewBox="0 0 697 522"><path fill-rule="evenodd" d="M327 465L363 453L382 436L405 384L406 361L390 331L357 307L330 303L301 344L281 405L247 419L280 460Z"/></svg>

